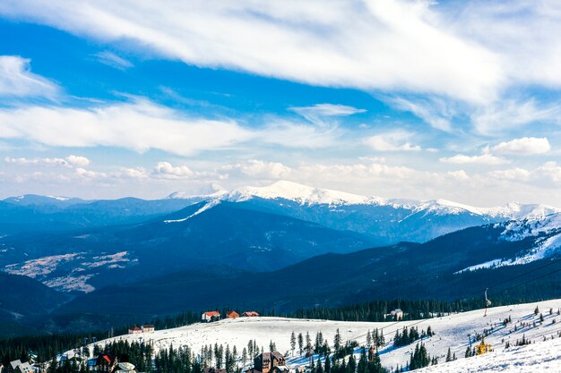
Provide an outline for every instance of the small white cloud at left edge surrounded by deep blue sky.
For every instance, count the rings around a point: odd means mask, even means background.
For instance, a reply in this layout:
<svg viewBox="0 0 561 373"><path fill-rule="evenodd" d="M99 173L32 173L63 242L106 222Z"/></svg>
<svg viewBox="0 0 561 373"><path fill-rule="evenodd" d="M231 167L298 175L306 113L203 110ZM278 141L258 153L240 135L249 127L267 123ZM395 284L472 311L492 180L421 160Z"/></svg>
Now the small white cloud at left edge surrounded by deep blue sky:
<svg viewBox="0 0 561 373"><path fill-rule="evenodd" d="M30 72L30 60L17 55L0 55L0 97L53 98L58 87Z"/></svg>

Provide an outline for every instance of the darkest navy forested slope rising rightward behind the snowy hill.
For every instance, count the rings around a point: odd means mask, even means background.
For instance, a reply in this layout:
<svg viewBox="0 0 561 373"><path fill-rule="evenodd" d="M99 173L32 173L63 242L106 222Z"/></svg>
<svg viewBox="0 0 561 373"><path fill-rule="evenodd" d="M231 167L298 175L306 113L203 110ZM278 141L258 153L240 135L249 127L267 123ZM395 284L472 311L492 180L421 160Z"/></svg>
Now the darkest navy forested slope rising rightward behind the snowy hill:
<svg viewBox="0 0 561 373"><path fill-rule="evenodd" d="M505 239L509 224L472 227L449 233L424 244L401 243L386 248L360 250L349 254L324 254L268 273L213 276L181 272L137 284L121 284L91 292L65 305L57 312L172 313L181 309L227 307L273 308L279 310L367 301L371 299L455 300L483 296L483 290L507 278L521 276L561 258L559 251L548 257L518 266L464 270L491 259L516 259L533 250L545 237L524 236ZM549 267L548 269L561 268ZM521 281L528 277L521 277ZM561 293L561 275L539 282L520 284L509 297L547 298ZM514 283L513 283L514 284ZM507 285L513 285L507 284ZM141 291L142 290L142 291ZM496 288L496 291L500 288ZM501 294L500 297L506 296ZM111 310L103 305L111 297L126 300ZM143 302L149 297L153 302Z"/></svg>

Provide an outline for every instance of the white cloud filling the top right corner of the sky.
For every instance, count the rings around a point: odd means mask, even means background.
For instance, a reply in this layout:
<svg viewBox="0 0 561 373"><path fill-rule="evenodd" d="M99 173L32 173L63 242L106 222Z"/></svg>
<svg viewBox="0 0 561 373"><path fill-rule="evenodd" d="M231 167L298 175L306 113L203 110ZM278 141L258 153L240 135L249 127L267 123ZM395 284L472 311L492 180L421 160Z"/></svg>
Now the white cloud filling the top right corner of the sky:
<svg viewBox="0 0 561 373"><path fill-rule="evenodd" d="M473 0L449 13L449 25L501 55L512 84L561 87L561 3Z"/></svg>

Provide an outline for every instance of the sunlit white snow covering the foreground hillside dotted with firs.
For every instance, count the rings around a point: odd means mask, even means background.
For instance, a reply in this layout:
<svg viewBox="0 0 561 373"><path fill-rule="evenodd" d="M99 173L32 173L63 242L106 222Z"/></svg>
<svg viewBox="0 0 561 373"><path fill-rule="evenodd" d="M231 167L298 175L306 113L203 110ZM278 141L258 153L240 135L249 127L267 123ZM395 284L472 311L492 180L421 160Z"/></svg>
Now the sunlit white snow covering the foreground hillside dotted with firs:
<svg viewBox="0 0 561 373"><path fill-rule="evenodd" d="M483 294L481 295L483 296ZM544 322L542 324L539 323L539 314L537 316L534 315L536 306L539 306L540 311L543 313ZM549 315L548 312L550 308L554 310L552 315ZM561 345L559 344L559 339L557 339L558 333L561 333L561 316L557 315L557 309L561 309L561 300L540 301L539 303L491 308L488 309L487 317L483 317L483 309L478 309L470 312L452 314L442 318L383 323L294 318L223 319L210 324L199 323L174 329L157 330L150 335L121 335L100 341L99 343L103 345L112 340L127 340L129 343L133 341L140 342L142 340L150 340L157 351L168 348L173 344L175 347L188 345L195 353L200 352L203 345L214 343L223 343L225 345L228 343L230 348L236 345L237 352L241 353L249 340L255 339L257 345L259 347L263 346L265 350L268 349L269 343L272 341L276 343L277 349L280 352L289 356L287 363L289 366L294 367L305 364L306 359L300 358L298 352L296 356L291 355L289 340L292 331L297 335L298 333L302 333L304 336L306 336L306 333L309 333L313 341L315 340L315 334L321 331L324 338L332 343L336 330L340 329L343 341L356 340L362 345L366 343L367 331L378 328L384 330L386 340L386 345L380 350L382 363L385 367L393 367L393 369L395 369L397 365L406 365L407 361L410 360L410 353L415 348L415 343L413 343L394 349L392 340L395 331L401 330L403 326L413 325L417 326L420 332L421 330L427 330L427 326L431 326L436 335L425 338L423 341L431 357L436 355L441 363L444 362L446 352L450 347L451 351L454 352L459 359L455 364L464 364L470 367L472 366L472 361L477 362L483 359L470 358L470 360L464 360L463 356L466 347L470 345L468 342L468 335L471 336L473 342L473 335L482 335L485 329L490 330L490 334L485 339L486 343L491 343L495 350L493 355L489 356L496 356L494 362L489 362L489 364L498 364L499 361L503 360L508 362L513 359L518 359L518 357L525 359L526 357L536 356L531 352L525 353L527 349L514 347L516 340L522 339L522 335L529 338L532 343L539 343L544 336L548 339L553 336L556 338L556 346ZM504 326L503 320L509 317L512 318L513 322ZM553 320L556 320L556 322L553 323ZM533 326L533 322L536 322L535 327ZM521 323L524 323L524 326L522 326ZM514 331L514 326L516 326L516 331ZM511 343L509 349L505 349L505 342L507 341ZM536 344L536 346L538 346L538 344ZM555 356L547 357L544 355L543 360L560 359L561 352L556 351L558 350L552 350L552 353L555 352ZM501 356L503 356L505 352L509 352L510 355L508 356L510 357L502 358ZM356 353L359 353L359 349L356 350ZM541 358L536 356L536 360L539 359ZM539 361L537 361L539 364L542 362L546 364L544 361ZM481 364L487 363L482 362ZM530 362L527 362L527 364L530 364ZM558 361L558 364L561 366L561 360ZM522 364L521 366L523 367L524 365ZM444 365L442 365L442 367L444 367ZM442 371L466 370L450 369Z"/></svg>

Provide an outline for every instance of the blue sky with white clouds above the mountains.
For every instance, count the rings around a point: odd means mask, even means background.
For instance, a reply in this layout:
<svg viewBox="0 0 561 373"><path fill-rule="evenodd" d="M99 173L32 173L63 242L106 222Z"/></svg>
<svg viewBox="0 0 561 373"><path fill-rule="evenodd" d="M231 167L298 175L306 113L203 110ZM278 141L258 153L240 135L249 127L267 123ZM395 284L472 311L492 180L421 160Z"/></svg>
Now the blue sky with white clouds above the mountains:
<svg viewBox="0 0 561 373"><path fill-rule="evenodd" d="M561 207L557 0L4 0L0 35L0 198Z"/></svg>

